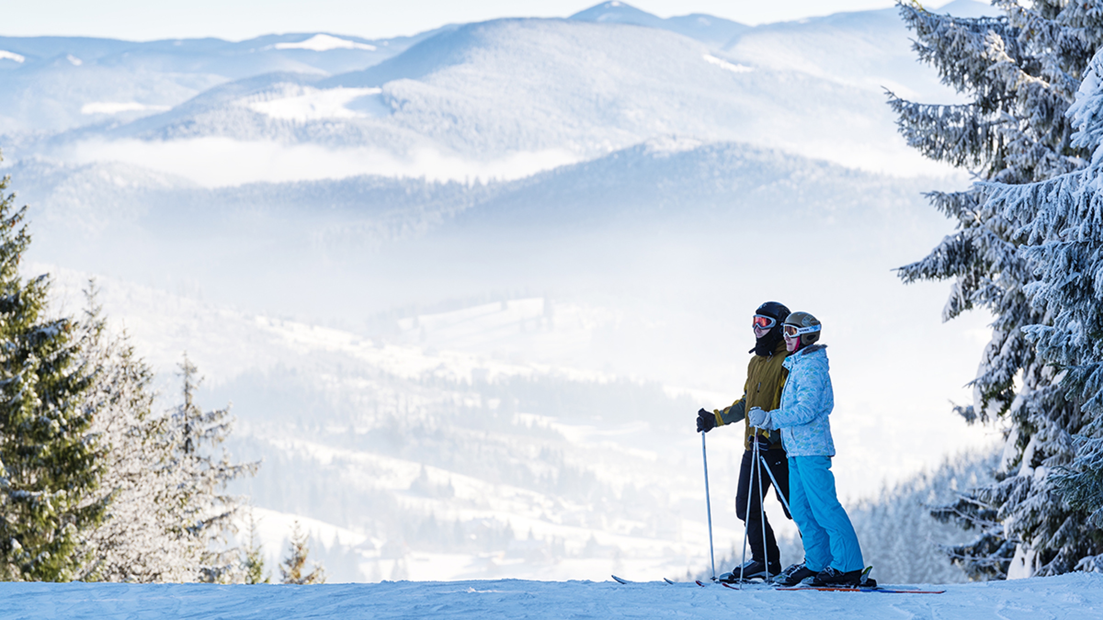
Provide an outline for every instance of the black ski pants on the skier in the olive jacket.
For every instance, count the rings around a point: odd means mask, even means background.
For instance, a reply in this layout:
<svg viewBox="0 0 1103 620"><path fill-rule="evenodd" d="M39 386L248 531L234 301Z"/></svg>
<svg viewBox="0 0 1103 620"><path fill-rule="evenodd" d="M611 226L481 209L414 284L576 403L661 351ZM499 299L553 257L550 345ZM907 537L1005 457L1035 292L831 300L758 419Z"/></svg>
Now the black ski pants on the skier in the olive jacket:
<svg viewBox="0 0 1103 620"><path fill-rule="evenodd" d="M789 460L784 450L761 449L759 455L765 459L767 467L778 480L780 489L775 489L779 495L784 495L789 501ZM751 547L751 559L765 562L768 566L777 566L781 563L781 552L778 550L778 541L773 537L773 528L765 514L759 510L758 483L762 481L762 496L768 496L770 490L770 474L762 470L761 463L753 468L754 475L751 475L751 466L754 462L754 452L747 450L743 452L743 461L739 466L739 492L736 494L736 515L741 521L747 522L747 543ZM761 473L761 477L759 475ZM748 510L747 500L750 499ZM781 500L778 500L781 502ZM782 510L785 504L782 502ZM793 519L785 511L785 516ZM763 548L763 530L765 531L765 548Z"/></svg>

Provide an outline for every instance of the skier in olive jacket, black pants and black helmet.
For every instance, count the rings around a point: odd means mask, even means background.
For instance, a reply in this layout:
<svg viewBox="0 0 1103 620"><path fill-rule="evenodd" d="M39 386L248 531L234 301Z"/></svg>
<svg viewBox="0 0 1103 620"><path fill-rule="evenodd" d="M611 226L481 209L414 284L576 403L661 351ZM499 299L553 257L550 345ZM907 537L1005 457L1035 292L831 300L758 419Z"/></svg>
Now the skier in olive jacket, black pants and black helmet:
<svg viewBox="0 0 1103 620"><path fill-rule="evenodd" d="M729 425L746 419L745 411L752 407L773 409L778 407L781 397L781 386L785 382L786 371L782 367L785 360L785 343L781 336L781 322L789 317L789 308L777 301L767 301L754 311L752 329L754 330L754 349L751 349L750 362L747 364L747 382L743 384L743 395L724 409L697 411L697 432L708 432L716 426ZM781 434L765 429L752 429L743 424L743 459L739 466L739 490L736 493L736 515L746 523L747 537L751 547L751 559L737 566L730 573L720 576L722 581L736 581L740 578L761 577L769 579L781 571L781 553L773 536L773 528L759 507L759 484L763 496L770 489L770 475L762 471L761 463L752 467L753 451L751 441L759 442L759 453L765 459L767 467L773 473L778 484L777 490L782 495L789 494L789 467L785 462L785 450L781 445ZM751 473L754 473L752 477ZM760 480L761 479L761 480ZM748 500L750 506L748 510ZM785 513L789 516L789 513ZM764 542L763 542L763 530ZM764 548L763 548L764 545Z"/></svg>

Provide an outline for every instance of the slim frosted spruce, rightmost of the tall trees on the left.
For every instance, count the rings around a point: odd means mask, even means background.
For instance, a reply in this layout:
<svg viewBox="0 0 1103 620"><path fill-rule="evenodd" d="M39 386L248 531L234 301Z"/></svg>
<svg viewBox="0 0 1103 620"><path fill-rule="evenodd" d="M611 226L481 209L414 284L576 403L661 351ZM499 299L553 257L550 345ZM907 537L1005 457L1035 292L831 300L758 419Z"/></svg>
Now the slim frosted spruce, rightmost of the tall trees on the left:
<svg viewBox="0 0 1103 620"><path fill-rule="evenodd" d="M240 582L246 577L240 549L226 545L228 535L235 532L233 519L242 503L239 498L226 493L226 485L243 475L255 474L260 463L232 462L225 449L215 455L233 426L229 407L203 411L195 404L202 378L186 354L180 371L184 402L168 420L172 453L164 466L176 490L170 498L173 533L178 541L190 545L189 556L197 560L193 567L199 580Z"/></svg>

